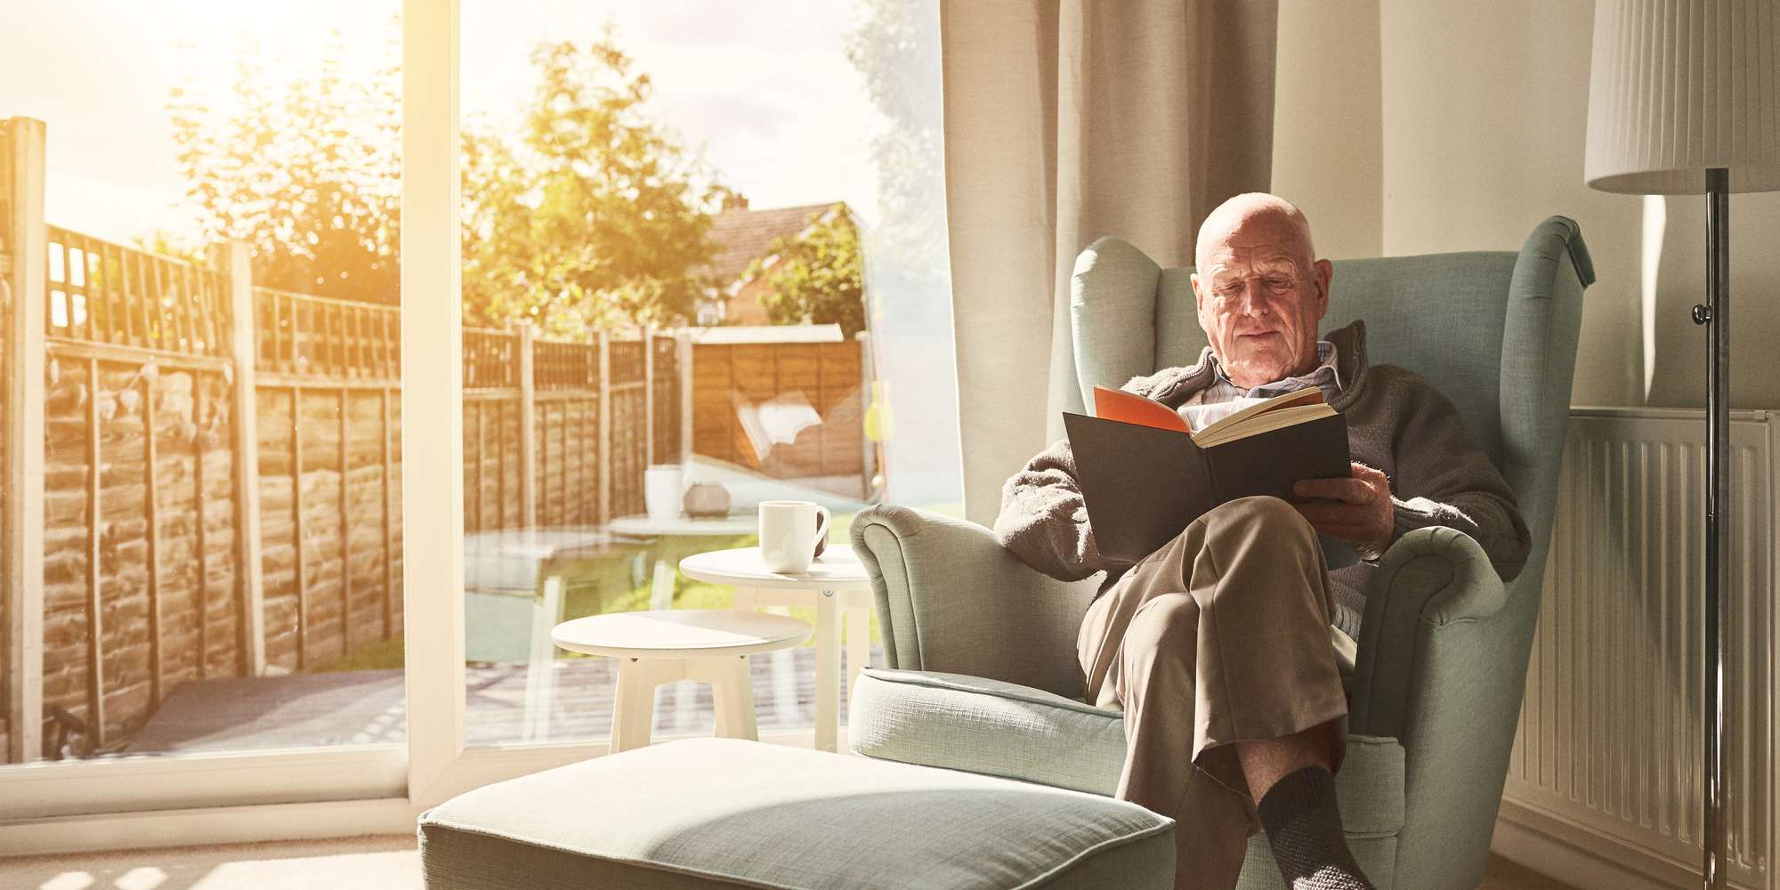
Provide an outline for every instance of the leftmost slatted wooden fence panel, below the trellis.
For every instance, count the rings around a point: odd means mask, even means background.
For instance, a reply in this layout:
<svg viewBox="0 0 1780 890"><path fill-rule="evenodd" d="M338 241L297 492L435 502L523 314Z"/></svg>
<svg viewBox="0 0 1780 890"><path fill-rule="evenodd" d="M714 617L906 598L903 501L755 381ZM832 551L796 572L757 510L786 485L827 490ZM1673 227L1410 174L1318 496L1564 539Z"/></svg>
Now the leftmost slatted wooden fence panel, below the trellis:
<svg viewBox="0 0 1780 890"><path fill-rule="evenodd" d="M44 707L107 744L180 682L240 666L230 384L166 358L52 361Z"/></svg>

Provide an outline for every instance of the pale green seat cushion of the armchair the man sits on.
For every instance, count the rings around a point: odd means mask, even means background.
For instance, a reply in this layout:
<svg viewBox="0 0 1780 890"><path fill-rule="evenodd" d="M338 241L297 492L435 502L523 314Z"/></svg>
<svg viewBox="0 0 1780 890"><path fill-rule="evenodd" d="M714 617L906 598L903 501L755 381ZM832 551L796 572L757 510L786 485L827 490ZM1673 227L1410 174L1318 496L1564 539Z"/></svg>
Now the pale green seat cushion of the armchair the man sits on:
<svg viewBox="0 0 1780 890"><path fill-rule="evenodd" d="M1111 796L1125 767L1125 716L984 676L865 668L853 685L847 744L883 760ZM1349 838L1394 837L1403 828L1403 746L1347 735L1335 794Z"/></svg>

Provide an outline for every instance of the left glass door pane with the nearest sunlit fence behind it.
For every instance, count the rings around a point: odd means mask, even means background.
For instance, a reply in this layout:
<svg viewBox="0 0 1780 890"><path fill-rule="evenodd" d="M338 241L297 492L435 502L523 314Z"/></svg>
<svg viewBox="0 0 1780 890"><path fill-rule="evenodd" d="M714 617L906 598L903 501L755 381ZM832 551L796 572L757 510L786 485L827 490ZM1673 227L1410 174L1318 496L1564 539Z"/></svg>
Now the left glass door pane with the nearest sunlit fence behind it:
<svg viewBox="0 0 1780 890"><path fill-rule="evenodd" d="M402 740L399 9L9 9L0 203L44 219L0 267L48 285L0 365L44 386L5 762Z"/></svg>

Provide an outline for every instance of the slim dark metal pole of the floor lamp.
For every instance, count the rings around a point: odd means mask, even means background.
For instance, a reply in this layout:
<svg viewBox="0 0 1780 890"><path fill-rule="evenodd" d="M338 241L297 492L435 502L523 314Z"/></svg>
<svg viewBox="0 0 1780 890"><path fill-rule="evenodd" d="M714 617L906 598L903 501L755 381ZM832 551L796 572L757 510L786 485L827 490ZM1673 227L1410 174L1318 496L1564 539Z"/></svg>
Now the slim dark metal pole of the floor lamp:
<svg viewBox="0 0 1780 890"><path fill-rule="evenodd" d="M1730 509L1730 171L1705 171L1705 304L1695 324L1705 326L1705 870L1707 890L1723 890L1725 853L1725 582L1730 554L1725 518Z"/></svg>

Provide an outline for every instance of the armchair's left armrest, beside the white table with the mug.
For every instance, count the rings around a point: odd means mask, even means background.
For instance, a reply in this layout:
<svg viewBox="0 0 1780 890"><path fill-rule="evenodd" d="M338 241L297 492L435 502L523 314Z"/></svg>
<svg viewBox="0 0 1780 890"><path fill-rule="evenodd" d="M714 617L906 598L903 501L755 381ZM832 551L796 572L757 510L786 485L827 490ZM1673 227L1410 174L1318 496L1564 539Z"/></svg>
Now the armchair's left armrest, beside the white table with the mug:
<svg viewBox="0 0 1780 890"><path fill-rule="evenodd" d="M1100 575L1047 577L988 529L897 506L853 518L890 668L988 676L1082 698L1075 634Z"/></svg>

